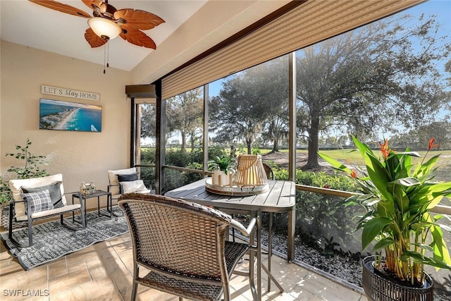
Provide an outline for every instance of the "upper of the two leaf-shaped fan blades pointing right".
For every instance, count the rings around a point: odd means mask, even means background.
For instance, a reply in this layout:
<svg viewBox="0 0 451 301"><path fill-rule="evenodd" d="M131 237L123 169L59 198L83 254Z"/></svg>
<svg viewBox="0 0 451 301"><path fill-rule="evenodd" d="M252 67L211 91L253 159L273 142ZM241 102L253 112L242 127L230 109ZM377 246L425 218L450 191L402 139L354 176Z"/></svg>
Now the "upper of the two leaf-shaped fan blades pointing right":
<svg viewBox="0 0 451 301"><path fill-rule="evenodd" d="M139 30L150 30L155 26L164 23L164 20L159 16L149 13L147 11L135 10L133 8L119 9L114 13L114 18L116 20L123 18L127 21L123 26L126 29L135 28Z"/></svg>

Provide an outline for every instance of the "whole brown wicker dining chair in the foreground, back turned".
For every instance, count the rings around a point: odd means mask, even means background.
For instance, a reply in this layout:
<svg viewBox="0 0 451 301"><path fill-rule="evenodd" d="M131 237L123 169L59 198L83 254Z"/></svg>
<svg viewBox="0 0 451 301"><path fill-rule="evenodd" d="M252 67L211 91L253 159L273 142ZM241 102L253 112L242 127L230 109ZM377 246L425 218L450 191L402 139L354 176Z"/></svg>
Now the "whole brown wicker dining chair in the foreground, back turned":
<svg viewBox="0 0 451 301"><path fill-rule="evenodd" d="M137 285L190 300L230 300L229 281L235 266L254 247L225 240L228 226L253 232L230 215L199 204L162 195L125 194L118 206L127 217L133 244L133 287ZM252 251L249 251L252 250ZM140 276L140 266L149 269ZM252 269L247 273L257 300Z"/></svg>

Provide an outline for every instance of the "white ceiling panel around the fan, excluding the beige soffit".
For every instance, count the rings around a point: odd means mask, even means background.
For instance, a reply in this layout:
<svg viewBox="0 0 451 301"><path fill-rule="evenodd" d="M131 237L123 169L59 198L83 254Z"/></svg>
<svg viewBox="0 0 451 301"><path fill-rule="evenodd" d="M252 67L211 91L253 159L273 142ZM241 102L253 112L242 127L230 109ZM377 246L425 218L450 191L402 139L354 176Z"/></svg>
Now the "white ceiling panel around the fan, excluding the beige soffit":
<svg viewBox="0 0 451 301"><path fill-rule="evenodd" d="M92 15L92 10L80 0L60 0ZM149 11L166 21L144 32L154 39L157 47L174 30L190 18L203 1L122 1L110 0L117 9L135 8ZM26 0L1 0L1 39L65 56L104 63L104 47L91 48L85 40L87 18L54 11ZM112 39L109 45L111 66L132 70L153 49L137 47L121 37ZM126 56L126 59L124 59Z"/></svg>

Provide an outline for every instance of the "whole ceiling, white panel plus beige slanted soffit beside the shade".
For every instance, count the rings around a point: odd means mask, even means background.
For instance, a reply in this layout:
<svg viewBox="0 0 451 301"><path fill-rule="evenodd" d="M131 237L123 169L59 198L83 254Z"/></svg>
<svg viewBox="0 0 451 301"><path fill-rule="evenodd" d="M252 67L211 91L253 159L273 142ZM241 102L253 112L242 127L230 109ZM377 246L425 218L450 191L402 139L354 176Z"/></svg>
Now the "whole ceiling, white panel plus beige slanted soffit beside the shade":
<svg viewBox="0 0 451 301"><path fill-rule="evenodd" d="M85 40L85 30L88 27L86 18L54 11L27 0L0 1L1 39L104 64L104 47L91 48ZM92 14L80 0L59 0L59 2ZM156 50L137 47L121 37L109 41L109 65L121 70L137 69L135 83L149 83L149 80L156 80L288 2L288 0L109 0L109 4L117 9L135 8L149 11L166 21L152 30L144 31L154 39ZM174 49L178 47L180 49ZM146 69L144 72L140 70L143 69L139 68L143 61L155 66L157 72L151 74L148 67L144 67Z"/></svg>

